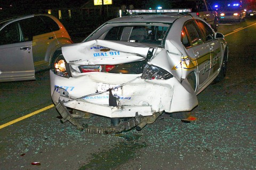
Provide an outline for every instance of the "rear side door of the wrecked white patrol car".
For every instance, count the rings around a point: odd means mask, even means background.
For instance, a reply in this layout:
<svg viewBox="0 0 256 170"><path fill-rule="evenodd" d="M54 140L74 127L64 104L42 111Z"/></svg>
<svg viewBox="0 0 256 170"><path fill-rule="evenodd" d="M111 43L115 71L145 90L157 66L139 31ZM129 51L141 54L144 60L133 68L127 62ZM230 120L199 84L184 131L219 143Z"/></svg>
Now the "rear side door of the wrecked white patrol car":
<svg viewBox="0 0 256 170"><path fill-rule="evenodd" d="M210 48L207 43L204 43L204 36L195 20L186 22L183 32L188 35L189 45L186 45L186 52L197 67L197 90L200 90L209 78L207 67L210 67L211 62Z"/></svg>

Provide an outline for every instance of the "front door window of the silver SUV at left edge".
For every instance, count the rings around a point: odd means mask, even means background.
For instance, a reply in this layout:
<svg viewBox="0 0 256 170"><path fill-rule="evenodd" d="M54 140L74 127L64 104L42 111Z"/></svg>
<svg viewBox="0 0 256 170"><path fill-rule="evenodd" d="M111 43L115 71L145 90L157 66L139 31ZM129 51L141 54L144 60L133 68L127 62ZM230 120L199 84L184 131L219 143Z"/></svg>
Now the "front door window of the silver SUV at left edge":
<svg viewBox="0 0 256 170"><path fill-rule="evenodd" d="M12 22L0 31L0 45L13 44L21 41L17 22Z"/></svg>

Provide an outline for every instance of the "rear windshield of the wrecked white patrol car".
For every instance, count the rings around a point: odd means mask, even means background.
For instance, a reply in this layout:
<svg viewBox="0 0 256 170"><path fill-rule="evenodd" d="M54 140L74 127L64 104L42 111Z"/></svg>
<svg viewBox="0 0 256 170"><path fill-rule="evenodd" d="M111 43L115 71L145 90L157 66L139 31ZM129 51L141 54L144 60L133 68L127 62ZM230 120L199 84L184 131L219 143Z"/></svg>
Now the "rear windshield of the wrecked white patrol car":
<svg viewBox="0 0 256 170"><path fill-rule="evenodd" d="M162 45L170 26L163 23L108 24L96 30L85 41L103 39Z"/></svg>

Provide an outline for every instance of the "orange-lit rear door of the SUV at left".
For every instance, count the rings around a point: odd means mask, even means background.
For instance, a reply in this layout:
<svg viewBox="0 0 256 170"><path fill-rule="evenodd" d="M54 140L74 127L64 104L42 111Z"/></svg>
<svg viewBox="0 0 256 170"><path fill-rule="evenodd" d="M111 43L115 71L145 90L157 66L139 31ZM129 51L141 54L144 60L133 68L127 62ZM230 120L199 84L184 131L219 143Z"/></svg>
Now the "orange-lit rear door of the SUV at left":
<svg viewBox="0 0 256 170"><path fill-rule="evenodd" d="M42 20L40 16L21 20L20 25L23 33L33 41L32 45L35 70L40 70L42 67L46 68L49 65L49 61L46 59L47 48L51 44L58 44L53 30Z"/></svg>

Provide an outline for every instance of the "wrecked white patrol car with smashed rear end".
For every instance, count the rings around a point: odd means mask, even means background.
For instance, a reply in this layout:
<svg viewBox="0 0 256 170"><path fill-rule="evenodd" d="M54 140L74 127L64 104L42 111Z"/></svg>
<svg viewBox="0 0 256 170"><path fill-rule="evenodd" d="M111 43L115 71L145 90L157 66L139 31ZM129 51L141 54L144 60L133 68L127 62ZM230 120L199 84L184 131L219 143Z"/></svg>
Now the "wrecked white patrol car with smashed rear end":
<svg viewBox="0 0 256 170"><path fill-rule="evenodd" d="M62 119L89 133L140 130L163 112L186 119L197 94L226 74L228 46L201 18L133 15L110 20L51 64L52 100ZM109 127L82 125L100 115Z"/></svg>

